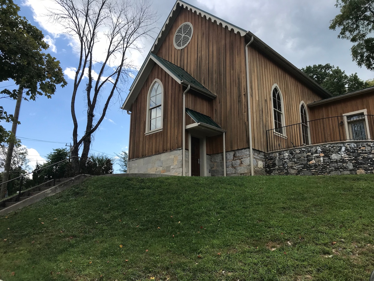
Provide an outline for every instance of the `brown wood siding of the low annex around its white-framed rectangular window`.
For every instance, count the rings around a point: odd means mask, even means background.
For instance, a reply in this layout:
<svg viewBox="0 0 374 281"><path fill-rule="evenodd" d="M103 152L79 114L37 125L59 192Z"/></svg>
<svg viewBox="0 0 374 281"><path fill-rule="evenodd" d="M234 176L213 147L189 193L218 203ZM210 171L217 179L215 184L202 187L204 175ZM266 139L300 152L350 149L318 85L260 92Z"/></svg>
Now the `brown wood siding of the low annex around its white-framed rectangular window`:
<svg viewBox="0 0 374 281"><path fill-rule="evenodd" d="M310 106L309 116L312 142L330 142L346 139L343 114L367 109L368 115L374 115L374 90L371 93L331 101L318 106ZM332 118L328 118L332 117ZM368 116L370 136L374 138L374 118Z"/></svg>

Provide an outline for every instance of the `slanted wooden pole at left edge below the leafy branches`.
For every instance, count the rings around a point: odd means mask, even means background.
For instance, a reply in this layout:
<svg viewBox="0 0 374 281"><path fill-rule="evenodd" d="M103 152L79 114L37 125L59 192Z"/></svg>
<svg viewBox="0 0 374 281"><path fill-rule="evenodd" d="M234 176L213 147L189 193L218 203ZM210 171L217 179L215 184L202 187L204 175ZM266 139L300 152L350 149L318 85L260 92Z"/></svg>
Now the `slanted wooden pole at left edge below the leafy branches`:
<svg viewBox="0 0 374 281"><path fill-rule="evenodd" d="M23 90L24 90L23 87L19 86L16 108L14 110L14 116L13 116L12 132L10 133L8 152L7 152L6 160L5 160L3 182L6 182L9 180L10 164L12 163L14 143L16 141L16 131L17 131L17 125L18 125L19 109L21 109ZM3 199L5 197L5 194L7 193L7 186L8 186L8 183L1 184L0 199Z"/></svg>

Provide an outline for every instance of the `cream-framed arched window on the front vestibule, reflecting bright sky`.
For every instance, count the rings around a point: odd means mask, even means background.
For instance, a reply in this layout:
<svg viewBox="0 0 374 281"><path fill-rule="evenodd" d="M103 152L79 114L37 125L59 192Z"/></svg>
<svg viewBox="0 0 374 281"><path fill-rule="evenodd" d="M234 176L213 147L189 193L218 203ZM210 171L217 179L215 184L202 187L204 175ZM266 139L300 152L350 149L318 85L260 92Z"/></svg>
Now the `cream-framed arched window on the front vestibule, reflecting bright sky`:
<svg viewBox="0 0 374 281"><path fill-rule="evenodd" d="M154 79L147 101L147 127L145 133L155 133L162 129L163 87L159 79Z"/></svg>

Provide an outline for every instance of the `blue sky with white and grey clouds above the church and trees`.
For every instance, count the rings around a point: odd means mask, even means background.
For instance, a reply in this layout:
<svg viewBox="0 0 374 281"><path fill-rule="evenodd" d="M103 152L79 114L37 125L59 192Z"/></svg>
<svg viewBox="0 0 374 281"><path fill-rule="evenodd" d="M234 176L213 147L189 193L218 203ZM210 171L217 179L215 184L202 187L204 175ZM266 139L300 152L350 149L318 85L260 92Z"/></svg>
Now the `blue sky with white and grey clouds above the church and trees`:
<svg viewBox="0 0 374 281"><path fill-rule="evenodd" d="M334 6L335 0L191 0L188 3L216 15L234 25L250 30L283 57L301 68L312 64L334 64L347 74L358 73L361 79L373 79L373 72L359 68L350 56L351 44L338 39L338 31L329 30L329 21L339 12ZM52 0L15 0L21 7L20 15L25 16L31 24L37 26L50 43L50 52L66 74L77 66L77 55L71 47L71 40L62 34L53 24L42 16L45 7L50 7ZM174 0L154 0L151 8L158 10L160 16L156 24L157 33L165 22ZM143 41L142 54L132 54L131 59L140 67L146 57L153 39ZM136 74L136 72L134 72ZM65 75L68 85L58 87L52 99L38 97L36 101L22 102L17 136L27 146L30 165L41 161L53 148L65 147L72 138L73 122L71 120L70 102L72 82ZM113 99L107 111L106 119L95 132L91 152L104 152L114 157L120 151L128 150L129 115L120 109L132 83L123 85L120 97ZM13 81L0 83L0 87L13 85ZM9 89L12 87L8 87ZM85 100L83 89L79 90L76 99L76 114L79 121L79 132L82 135L85 126ZM8 113L14 111L15 101L0 99L1 105ZM2 123L10 130L10 124ZM25 139L27 138L27 139ZM40 141L32 141L37 139ZM118 166L115 166L118 172Z"/></svg>

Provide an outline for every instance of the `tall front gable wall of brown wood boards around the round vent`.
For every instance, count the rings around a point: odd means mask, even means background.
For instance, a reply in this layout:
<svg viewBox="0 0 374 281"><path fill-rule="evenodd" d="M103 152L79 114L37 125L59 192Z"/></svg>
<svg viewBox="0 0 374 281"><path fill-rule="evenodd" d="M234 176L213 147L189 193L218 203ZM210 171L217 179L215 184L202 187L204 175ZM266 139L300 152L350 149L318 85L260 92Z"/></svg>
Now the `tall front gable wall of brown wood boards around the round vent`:
<svg viewBox="0 0 374 281"><path fill-rule="evenodd" d="M173 45L174 34L184 22L193 25L193 36L184 49L177 50ZM157 52L159 57L183 68L217 94L217 99L208 102L198 94L188 93L186 106L208 115L227 131L227 151L249 146L244 46L240 34L191 10L181 9ZM222 136L208 138L208 154L223 151L220 139Z"/></svg>

